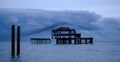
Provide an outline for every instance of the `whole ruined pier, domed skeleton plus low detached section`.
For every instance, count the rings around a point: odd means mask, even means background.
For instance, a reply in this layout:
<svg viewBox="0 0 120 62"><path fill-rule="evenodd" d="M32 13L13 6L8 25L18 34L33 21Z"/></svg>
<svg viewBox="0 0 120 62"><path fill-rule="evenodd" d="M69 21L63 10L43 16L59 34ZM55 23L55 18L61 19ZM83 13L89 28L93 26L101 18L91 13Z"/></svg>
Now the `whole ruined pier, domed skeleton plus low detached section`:
<svg viewBox="0 0 120 62"><path fill-rule="evenodd" d="M93 44L93 37L81 37L81 33L76 33L75 29L69 27L59 27L52 30L52 39L56 44ZM30 38L31 44L50 44L50 38Z"/></svg>

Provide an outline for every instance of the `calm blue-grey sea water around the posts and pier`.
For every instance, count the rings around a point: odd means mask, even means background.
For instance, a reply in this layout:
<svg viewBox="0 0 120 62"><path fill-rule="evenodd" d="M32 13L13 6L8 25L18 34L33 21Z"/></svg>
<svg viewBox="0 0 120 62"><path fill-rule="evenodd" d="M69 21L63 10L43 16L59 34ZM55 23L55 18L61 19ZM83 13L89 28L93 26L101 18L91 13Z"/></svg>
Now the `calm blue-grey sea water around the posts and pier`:
<svg viewBox="0 0 120 62"><path fill-rule="evenodd" d="M0 62L120 62L120 43L81 45L21 42L21 57L11 58L11 43L0 42Z"/></svg>

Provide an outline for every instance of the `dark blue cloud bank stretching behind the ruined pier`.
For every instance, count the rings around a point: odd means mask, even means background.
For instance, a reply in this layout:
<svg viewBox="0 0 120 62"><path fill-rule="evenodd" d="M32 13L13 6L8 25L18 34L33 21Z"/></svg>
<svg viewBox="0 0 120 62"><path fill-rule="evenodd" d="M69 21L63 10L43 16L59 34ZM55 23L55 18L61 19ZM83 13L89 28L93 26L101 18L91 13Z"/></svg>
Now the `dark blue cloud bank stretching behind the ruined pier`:
<svg viewBox="0 0 120 62"><path fill-rule="evenodd" d="M104 18L88 11L0 11L0 40L10 39L11 25L21 26L21 36L33 36L37 33L51 32L52 29L67 26L83 35L97 40L120 40L120 19ZM112 36L111 36L112 35Z"/></svg>

